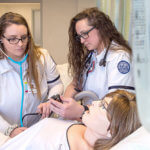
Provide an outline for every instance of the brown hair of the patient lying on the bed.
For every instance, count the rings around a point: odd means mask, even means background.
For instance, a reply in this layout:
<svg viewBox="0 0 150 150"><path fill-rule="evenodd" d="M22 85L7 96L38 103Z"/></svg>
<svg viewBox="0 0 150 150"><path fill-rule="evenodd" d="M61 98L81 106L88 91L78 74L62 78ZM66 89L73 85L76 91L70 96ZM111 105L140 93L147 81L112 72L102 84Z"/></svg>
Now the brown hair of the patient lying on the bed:
<svg viewBox="0 0 150 150"><path fill-rule="evenodd" d="M109 150L141 126L135 94L117 90L106 97L112 97L107 107L111 138L97 140L94 150Z"/></svg>

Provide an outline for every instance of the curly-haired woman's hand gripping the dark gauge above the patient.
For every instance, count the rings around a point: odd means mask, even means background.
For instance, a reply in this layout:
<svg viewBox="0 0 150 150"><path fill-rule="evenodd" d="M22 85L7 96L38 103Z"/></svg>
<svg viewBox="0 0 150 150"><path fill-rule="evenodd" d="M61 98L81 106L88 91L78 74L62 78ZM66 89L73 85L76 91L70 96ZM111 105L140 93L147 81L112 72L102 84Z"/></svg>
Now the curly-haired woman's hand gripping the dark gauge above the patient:
<svg viewBox="0 0 150 150"><path fill-rule="evenodd" d="M50 108L53 112L65 119L75 120L81 117L84 108L72 98L61 97L63 103L50 100Z"/></svg>

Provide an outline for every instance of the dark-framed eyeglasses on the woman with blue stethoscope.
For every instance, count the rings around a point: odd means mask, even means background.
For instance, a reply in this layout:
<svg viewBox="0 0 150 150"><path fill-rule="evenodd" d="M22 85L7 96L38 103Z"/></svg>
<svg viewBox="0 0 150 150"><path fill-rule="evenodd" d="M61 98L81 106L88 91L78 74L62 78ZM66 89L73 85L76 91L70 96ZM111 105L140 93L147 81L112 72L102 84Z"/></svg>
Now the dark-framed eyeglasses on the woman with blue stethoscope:
<svg viewBox="0 0 150 150"><path fill-rule="evenodd" d="M21 41L22 43L27 43L28 41L28 36L24 35L22 36L20 39L19 38L7 38L3 35L3 37L10 43L10 44L18 44L19 41Z"/></svg>

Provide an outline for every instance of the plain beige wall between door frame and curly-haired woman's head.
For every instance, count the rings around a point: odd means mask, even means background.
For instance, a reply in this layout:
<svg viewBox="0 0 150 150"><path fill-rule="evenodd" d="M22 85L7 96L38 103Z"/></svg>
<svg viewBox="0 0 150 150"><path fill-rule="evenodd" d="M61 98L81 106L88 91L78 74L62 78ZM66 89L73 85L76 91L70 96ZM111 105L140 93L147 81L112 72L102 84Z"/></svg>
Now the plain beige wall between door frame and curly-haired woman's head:
<svg viewBox="0 0 150 150"><path fill-rule="evenodd" d="M68 27L71 18L87 7L96 6L96 0L43 0L43 47L56 63L67 62Z"/></svg>

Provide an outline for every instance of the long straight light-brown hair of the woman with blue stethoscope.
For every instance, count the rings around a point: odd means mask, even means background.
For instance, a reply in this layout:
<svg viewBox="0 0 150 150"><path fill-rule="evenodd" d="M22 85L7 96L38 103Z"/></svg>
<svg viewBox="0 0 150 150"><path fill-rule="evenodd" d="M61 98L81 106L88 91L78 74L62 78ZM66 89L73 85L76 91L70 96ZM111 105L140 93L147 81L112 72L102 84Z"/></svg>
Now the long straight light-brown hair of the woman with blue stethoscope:
<svg viewBox="0 0 150 150"><path fill-rule="evenodd" d="M27 34L29 37L28 43L27 43L27 48L25 50L25 54L28 53L27 77L28 77L28 81L29 81L31 89L33 88L31 85L31 81L33 80L35 82L38 97L41 99L40 83L39 83L38 69L37 69L36 63L37 62L40 63L39 58L42 55L42 53L41 53L39 47L36 46L33 41L27 21L20 14L8 12L0 17L0 39L2 38L6 28L12 24L24 25L27 28L27 32L28 32ZM3 49L3 51L5 51L3 43L1 43L1 48ZM3 59L4 57L5 57L5 55L2 52L0 52L0 59Z"/></svg>

